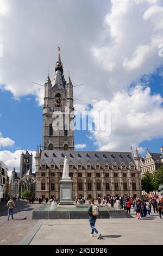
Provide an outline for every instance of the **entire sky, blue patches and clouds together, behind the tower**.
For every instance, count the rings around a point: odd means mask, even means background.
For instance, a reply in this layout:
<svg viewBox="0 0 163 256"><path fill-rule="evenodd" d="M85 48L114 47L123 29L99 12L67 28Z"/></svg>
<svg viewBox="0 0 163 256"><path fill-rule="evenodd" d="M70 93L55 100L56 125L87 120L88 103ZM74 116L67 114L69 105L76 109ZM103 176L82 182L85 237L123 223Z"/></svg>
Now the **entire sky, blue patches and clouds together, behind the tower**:
<svg viewBox="0 0 163 256"><path fill-rule="evenodd" d="M65 79L85 84L74 107L111 114L105 131L74 132L78 150L159 152L162 16L162 0L0 0L0 160L18 169L21 151L42 144L43 87L32 82L53 79L58 46Z"/></svg>

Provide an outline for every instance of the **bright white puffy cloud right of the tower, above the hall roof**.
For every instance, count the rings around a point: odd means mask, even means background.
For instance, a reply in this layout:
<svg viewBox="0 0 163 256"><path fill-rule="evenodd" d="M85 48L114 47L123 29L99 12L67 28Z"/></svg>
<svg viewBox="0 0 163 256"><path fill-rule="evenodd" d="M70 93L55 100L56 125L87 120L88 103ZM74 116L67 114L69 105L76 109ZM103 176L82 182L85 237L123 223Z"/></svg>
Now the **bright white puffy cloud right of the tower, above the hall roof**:
<svg viewBox="0 0 163 256"><path fill-rule="evenodd" d="M92 115L99 109L111 112L111 134L109 127L91 132L99 150L129 150L131 145L138 147L145 140L163 137L162 102L159 94L151 95L151 89L142 86L119 92L111 101L97 102Z"/></svg>

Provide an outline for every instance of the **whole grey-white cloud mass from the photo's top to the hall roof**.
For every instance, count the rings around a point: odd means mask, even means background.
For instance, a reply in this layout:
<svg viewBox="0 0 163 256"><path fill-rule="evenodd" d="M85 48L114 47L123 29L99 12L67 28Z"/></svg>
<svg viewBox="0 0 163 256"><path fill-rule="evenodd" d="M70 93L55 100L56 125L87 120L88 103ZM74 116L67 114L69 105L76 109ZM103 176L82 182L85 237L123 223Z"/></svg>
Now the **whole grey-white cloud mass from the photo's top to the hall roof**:
<svg viewBox="0 0 163 256"><path fill-rule="evenodd" d="M5 0L5 4L10 10L3 11L5 16L0 13L4 46L0 84L15 99L34 94L42 104L44 88L31 82L43 84L47 70L53 78L60 45L65 78L70 70L74 85L85 83L74 88L74 97L83 100L74 101L76 110L92 103L92 111L113 113L111 135L90 136L99 149L128 150L130 144L162 137L161 96L151 95L140 84L128 92L132 82L163 64L158 56L163 42L161 0L49 0L48 4Z"/></svg>

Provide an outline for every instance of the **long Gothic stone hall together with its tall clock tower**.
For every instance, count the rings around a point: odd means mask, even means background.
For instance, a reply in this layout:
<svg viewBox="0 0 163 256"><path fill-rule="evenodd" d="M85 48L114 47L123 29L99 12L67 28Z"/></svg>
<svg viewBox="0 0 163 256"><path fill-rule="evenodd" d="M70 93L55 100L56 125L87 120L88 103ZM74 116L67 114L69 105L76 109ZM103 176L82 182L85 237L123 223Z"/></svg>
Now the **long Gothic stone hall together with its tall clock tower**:
<svg viewBox="0 0 163 256"><path fill-rule="evenodd" d="M73 84L68 75L64 78L60 58L55 64L54 78L49 75L45 82L43 104L42 150L35 156L37 198L58 198L64 157L69 161L70 177L73 180L73 198L95 198L106 194L140 196L140 155L136 150L128 152L76 151L73 126ZM62 113L62 129L54 129L53 121Z"/></svg>

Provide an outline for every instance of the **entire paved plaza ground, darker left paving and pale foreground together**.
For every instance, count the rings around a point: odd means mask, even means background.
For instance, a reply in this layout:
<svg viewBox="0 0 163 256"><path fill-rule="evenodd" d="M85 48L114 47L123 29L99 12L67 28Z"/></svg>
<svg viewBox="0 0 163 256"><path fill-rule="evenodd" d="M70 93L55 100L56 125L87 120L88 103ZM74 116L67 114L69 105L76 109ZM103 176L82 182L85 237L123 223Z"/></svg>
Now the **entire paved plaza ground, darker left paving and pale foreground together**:
<svg viewBox="0 0 163 256"><path fill-rule="evenodd" d="M90 236L88 220L31 220L32 211L40 206L16 202L10 221L7 211L1 212L0 245L163 245L163 219L158 214L139 221L131 210L134 218L97 219L96 227L102 233L97 240Z"/></svg>

